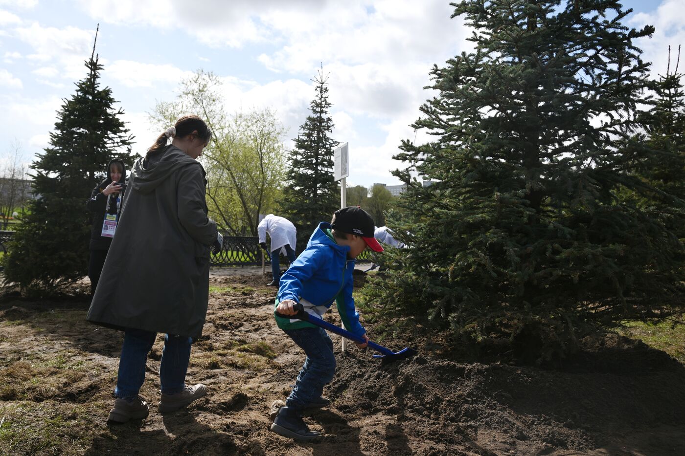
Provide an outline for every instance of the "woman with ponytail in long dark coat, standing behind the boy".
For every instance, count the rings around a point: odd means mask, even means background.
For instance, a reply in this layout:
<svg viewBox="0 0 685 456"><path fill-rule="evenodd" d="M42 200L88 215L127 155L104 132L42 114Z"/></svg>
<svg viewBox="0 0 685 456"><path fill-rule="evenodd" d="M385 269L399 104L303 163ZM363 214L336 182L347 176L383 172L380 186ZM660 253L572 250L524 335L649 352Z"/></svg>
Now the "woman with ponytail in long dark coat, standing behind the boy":
<svg viewBox="0 0 685 456"><path fill-rule="evenodd" d="M88 321L121 329L124 342L109 419L142 419L138 392L157 333L166 333L160 364L160 412L206 394L185 383L193 338L202 333L209 260L219 233L207 216L205 171L196 161L212 136L197 116L184 116L134 164L121 219L93 296ZM171 144L166 145L168 139Z"/></svg>

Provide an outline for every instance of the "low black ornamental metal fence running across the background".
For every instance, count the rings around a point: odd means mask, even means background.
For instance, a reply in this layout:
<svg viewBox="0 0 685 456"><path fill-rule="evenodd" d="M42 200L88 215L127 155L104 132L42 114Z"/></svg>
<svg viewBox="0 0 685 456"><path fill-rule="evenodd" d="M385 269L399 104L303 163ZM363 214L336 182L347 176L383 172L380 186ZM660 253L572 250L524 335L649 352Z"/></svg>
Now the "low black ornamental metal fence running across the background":
<svg viewBox="0 0 685 456"><path fill-rule="evenodd" d="M14 238L14 231L0 231L0 252L7 252L7 242ZM267 257L266 264L271 263ZM373 262L372 252L364 250L358 257L358 263ZM260 266L262 249L256 236L224 236L221 252L212 255L212 266Z"/></svg>

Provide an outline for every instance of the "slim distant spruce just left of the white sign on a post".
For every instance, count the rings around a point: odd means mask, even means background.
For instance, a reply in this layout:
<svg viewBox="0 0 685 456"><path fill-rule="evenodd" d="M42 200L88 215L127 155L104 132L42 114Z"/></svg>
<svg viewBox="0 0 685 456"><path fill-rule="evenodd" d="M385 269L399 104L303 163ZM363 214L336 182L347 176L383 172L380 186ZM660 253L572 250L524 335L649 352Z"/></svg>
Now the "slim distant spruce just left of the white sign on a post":
<svg viewBox="0 0 685 456"><path fill-rule="evenodd" d="M313 81L316 97L290 151L288 185L281 201L283 215L297 228L297 251L305 248L316 224L330 220L340 207L340 190L333 178L333 149L338 141L331 138L327 77L319 71Z"/></svg>

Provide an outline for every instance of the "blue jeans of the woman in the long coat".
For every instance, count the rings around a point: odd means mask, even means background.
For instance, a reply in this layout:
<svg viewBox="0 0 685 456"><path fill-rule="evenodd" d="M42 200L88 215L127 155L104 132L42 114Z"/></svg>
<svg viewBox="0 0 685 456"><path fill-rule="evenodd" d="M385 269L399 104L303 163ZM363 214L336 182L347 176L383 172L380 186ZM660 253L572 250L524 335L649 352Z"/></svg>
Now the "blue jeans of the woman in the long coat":
<svg viewBox="0 0 685 456"><path fill-rule="evenodd" d="M157 333L142 329L126 329L119 359L119 377L114 396L136 398L145 381L145 362L155 343ZM164 351L160 363L160 383L163 394L181 392L186 385L192 338L179 335L164 336Z"/></svg>

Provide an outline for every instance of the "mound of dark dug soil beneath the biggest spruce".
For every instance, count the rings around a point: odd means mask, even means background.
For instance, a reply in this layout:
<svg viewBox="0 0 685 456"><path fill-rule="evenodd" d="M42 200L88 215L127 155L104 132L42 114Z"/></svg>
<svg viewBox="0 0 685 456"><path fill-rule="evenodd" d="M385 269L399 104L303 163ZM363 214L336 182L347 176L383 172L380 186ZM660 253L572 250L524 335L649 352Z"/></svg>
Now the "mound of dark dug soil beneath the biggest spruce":
<svg viewBox="0 0 685 456"><path fill-rule="evenodd" d="M329 388L338 410L395 415L410 440L455 448L451 454L589 454L644 429L680 428L685 436L685 391L677 386L685 368L619 336L584 341L565 371L421 355L385 367L369 357L338 359ZM676 446L645 454L683 454L685 442Z"/></svg>

